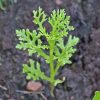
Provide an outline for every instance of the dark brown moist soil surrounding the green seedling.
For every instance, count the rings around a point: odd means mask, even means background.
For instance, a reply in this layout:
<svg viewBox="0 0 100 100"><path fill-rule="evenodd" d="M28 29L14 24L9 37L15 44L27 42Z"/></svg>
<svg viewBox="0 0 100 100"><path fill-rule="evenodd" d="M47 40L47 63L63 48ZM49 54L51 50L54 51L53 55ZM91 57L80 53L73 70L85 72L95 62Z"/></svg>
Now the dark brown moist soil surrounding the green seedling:
<svg viewBox="0 0 100 100"><path fill-rule="evenodd" d="M39 6L48 15L53 9L64 8L76 27L72 34L80 38L73 63L60 71L59 77L65 76L66 81L56 87L55 97L44 83L44 96L47 100L92 100L100 90L100 0L17 0L6 11L0 10L0 100L44 100L40 94L18 92L26 90L22 64L29 57L15 48L15 30L36 28L32 11ZM45 65L42 58L39 61Z"/></svg>

